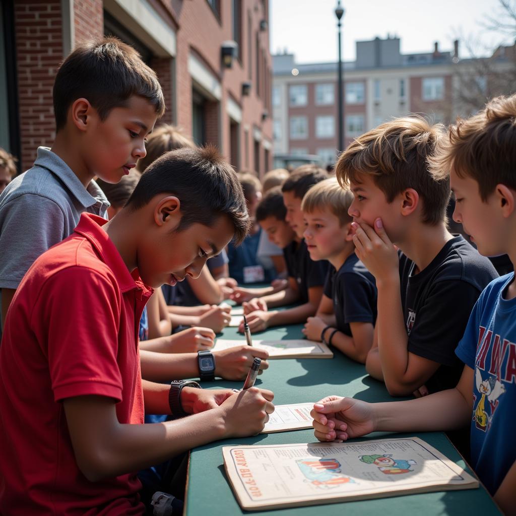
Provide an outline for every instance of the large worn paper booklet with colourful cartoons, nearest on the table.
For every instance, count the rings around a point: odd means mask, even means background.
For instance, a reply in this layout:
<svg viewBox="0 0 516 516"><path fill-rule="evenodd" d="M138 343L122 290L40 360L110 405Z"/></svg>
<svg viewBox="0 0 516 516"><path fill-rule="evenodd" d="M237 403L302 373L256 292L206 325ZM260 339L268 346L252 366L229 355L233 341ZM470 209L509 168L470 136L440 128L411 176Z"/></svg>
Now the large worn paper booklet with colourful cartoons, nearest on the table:
<svg viewBox="0 0 516 516"><path fill-rule="evenodd" d="M243 509L277 509L454 489L478 481L416 437L354 443L224 446Z"/></svg>

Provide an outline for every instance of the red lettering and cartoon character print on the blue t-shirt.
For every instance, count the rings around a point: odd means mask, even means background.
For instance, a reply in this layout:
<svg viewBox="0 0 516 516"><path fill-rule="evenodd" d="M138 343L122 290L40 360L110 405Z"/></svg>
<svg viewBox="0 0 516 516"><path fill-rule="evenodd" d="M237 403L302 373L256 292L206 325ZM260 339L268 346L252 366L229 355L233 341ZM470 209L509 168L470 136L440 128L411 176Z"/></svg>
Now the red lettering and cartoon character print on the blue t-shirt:
<svg viewBox="0 0 516 516"><path fill-rule="evenodd" d="M486 330L483 326L479 327L475 360L476 392L473 393L473 421L475 427L483 432L491 427L499 405L498 398L505 394L504 382L511 383L516 377L516 344L500 335L493 336L491 330ZM491 340L492 350L487 363ZM486 399L489 404L486 404Z"/></svg>

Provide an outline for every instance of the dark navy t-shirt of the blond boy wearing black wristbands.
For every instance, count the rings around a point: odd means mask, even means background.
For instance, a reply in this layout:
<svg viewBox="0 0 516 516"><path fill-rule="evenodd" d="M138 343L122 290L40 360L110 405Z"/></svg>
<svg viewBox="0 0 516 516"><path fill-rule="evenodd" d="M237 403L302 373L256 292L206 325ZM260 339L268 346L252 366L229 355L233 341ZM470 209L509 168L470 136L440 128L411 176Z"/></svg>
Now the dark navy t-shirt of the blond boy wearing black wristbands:
<svg viewBox="0 0 516 516"><path fill-rule="evenodd" d="M376 321L377 291L375 277L355 253L351 253L338 271L330 265L324 288L333 301L337 329L351 336L350 322Z"/></svg>

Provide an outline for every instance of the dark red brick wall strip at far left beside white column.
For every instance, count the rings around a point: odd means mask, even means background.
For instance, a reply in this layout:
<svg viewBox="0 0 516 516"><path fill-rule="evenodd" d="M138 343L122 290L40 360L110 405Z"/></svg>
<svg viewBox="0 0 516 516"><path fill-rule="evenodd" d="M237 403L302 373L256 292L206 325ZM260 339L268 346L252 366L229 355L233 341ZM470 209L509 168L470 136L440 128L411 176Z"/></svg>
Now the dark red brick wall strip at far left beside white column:
<svg viewBox="0 0 516 516"><path fill-rule="evenodd" d="M14 4L20 105L21 169L31 167L40 145L55 137L52 87L62 59L61 3Z"/></svg>

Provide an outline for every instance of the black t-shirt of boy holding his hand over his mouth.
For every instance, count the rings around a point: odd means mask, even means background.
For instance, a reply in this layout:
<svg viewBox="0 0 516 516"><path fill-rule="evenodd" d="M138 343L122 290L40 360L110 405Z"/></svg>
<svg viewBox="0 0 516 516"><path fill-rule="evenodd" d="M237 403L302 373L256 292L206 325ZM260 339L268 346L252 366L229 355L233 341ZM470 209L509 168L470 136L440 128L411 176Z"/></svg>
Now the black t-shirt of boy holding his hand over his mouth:
<svg viewBox="0 0 516 516"><path fill-rule="evenodd" d="M449 240L421 272L400 254L401 303L408 350L441 366L426 382L430 392L457 385L463 364L455 355L482 290L497 278L491 262L462 236Z"/></svg>

